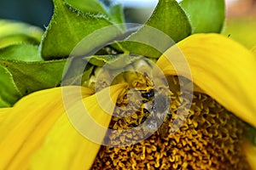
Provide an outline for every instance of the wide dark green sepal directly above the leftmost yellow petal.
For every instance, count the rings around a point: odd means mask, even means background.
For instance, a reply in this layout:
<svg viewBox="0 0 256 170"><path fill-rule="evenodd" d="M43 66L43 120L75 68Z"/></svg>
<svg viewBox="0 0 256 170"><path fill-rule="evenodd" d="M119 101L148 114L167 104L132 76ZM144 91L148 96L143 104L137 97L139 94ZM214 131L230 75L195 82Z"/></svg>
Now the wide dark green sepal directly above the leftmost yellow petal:
<svg viewBox="0 0 256 170"><path fill-rule="evenodd" d="M66 59L36 62L0 59L0 67L9 71L22 96L58 86L65 64Z"/></svg>

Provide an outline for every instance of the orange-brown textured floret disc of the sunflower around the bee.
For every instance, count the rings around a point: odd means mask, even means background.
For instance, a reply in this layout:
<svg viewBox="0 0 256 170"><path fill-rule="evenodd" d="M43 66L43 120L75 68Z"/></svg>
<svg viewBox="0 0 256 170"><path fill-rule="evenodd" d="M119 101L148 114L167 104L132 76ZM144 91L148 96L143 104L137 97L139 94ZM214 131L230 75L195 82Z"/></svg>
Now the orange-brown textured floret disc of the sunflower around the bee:
<svg viewBox="0 0 256 170"><path fill-rule="evenodd" d="M165 136L154 132L148 139L137 144L119 146L124 142L139 140L145 135L143 128L137 133L129 131L108 132L105 138L108 146L102 146L91 169L250 169L243 155L241 144L246 126L239 118L219 105L207 94L194 93L189 115L177 114L177 108L186 103L181 99L177 77L168 77L171 102L166 116ZM213 88L213 87L212 87ZM136 99L138 94L134 95ZM123 96L124 97L124 96ZM150 117L144 105L134 105L125 110L126 103L119 103L109 128L131 129ZM186 110L186 106L183 106ZM129 115L129 116L125 116ZM177 121L174 120L184 120ZM175 123L175 124L173 124Z"/></svg>

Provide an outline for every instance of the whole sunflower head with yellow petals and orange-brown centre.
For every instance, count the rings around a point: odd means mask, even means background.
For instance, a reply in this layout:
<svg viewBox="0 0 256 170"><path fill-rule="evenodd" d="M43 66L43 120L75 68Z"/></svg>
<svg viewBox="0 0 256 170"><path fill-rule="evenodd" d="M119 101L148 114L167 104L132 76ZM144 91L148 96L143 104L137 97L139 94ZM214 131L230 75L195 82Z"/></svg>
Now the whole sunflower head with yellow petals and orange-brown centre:
<svg viewBox="0 0 256 170"><path fill-rule="evenodd" d="M91 77L85 83L87 88L41 90L0 110L0 169L255 169L256 146L253 138L248 138L250 129L256 127L255 56L218 34L195 34L177 47L188 61L192 79L183 72L177 75L169 62L177 48L169 48L156 61L168 82L162 94L170 96L166 117L157 131L140 126L151 117L149 107L162 101L155 94L159 91L153 93L150 88L157 80L124 72L111 84L102 82L95 92ZM145 65L138 63L137 69ZM178 60L175 65L183 68ZM194 93L181 91L191 82ZM189 94L193 99L188 106ZM99 96L108 108L102 108ZM142 104L137 105L137 99L142 99ZM81 101L85 110L79 106ZM127 105L131 109L126 109ZM180 114L179 107L188 115ZM67 114L69 111L73 115ZM88 116L79 116L81 111ZM104 145L84 138L71 116ZM94 127L90 118L106 128ZM134 127L141 128L137 133L126 131ZM140 139L145 133L150 134L148 138ZM138 142L129 143L134 140Z"/></svg>

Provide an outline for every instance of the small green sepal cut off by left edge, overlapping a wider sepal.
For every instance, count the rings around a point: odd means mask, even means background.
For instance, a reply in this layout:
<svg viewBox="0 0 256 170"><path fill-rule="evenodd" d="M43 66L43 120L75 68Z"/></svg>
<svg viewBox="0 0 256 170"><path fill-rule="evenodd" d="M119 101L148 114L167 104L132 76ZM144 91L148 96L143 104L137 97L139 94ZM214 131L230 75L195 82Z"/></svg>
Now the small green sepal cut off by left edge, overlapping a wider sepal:
<svg viewBox="0 0 256 170"><path fill-rule="evenodd" d="M0 65L0 108L14 105L20 97L10 72Z"/></svg>

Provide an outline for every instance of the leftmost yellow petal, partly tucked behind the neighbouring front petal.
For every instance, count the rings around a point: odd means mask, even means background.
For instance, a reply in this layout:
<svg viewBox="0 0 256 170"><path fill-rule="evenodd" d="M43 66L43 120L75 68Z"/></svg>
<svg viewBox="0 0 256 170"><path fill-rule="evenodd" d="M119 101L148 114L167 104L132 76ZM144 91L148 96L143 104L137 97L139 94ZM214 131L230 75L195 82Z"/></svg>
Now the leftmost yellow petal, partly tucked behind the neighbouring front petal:
<svg viewBox="0 0 256 170"><path fill-rule="evenodd" d="M72 91L80 87L65 87ZM49 129L65 113L62 88L51 88L20 99L0 124L0 169L27 169L33 151L44 141ZM92 94L81 88L82 95ZM72 98L70 93L70 99Z"/></svg>

